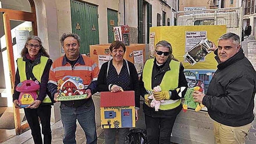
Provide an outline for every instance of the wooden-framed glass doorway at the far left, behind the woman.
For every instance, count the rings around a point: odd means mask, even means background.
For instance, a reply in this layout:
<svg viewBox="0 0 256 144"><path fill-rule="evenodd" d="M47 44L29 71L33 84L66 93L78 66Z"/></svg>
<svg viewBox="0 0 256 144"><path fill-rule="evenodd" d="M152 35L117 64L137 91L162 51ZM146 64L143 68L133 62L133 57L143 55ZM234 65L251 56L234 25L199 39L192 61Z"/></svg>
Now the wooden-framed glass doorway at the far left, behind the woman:
<svg viewBox="0 0 256 144"><path fill-rule="evenodd" d="M29 129L23 109L15 109L12 94L16 59L29 35L37 35L35 5L32 0L1 0L0 8L0 143ZM20 11L23 10L23 11Z"/></svg>

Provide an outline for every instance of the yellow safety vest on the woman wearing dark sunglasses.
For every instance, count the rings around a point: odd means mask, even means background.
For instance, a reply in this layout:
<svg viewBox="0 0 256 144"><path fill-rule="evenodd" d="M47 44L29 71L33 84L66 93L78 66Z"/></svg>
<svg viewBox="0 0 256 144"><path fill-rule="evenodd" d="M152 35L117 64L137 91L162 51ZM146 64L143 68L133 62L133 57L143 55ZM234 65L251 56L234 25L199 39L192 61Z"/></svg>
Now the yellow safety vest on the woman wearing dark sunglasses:
<svg viewBox="0 0 256 144"><path fill-rule="evenodd" d="M153 93L152 86L151 86L153 65L154 65L154 58L147 60L145 62L143 73L142 73L142 81L144 82L144 87L147 90L148 94ZM160 87L162 91L175 90L178 87L180 62L171 60L169 65L170 65L170 70L166 71L160 83ZM181 99L165 100L164 103L161 103L159 109L161 110L174 109L177 106L179 106L180 103L181 103Z"/></svg>

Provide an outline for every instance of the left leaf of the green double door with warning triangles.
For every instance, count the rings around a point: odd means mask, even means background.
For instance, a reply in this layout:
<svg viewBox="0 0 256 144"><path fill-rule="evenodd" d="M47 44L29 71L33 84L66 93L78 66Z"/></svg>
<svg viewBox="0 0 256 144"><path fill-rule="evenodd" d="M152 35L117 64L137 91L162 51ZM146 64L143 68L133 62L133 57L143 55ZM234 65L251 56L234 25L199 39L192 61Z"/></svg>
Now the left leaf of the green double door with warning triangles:
<svg viewBox="0 0 256 144"><path fill-rule="evenodd" d="M85 25L85 3L70 0L71 7L71 23L72 33L76 33L81 38L80 53L84 54L86 51L86 25Z"/></svg>

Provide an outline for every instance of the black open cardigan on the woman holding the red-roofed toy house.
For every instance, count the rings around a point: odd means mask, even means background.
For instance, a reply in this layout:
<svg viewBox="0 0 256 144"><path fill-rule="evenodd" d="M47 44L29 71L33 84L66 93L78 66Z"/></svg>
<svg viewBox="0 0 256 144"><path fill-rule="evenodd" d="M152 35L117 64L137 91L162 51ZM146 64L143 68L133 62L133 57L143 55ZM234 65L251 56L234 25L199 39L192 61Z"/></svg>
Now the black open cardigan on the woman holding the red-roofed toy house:
<svg viewBox="0 0 256 144"><path fill-rule="evenodd" d="M134 90L135 93L135 107L140 108L140 88L139 88L139 78L138 78L138 73L137 70L134 66L133 63L130 61L128 62L128 67L130 71L130 77L131 77L131 84L130 88L131 90ZM125 63L125 61L124 61ZM107 77L107 67L108 67L108 61L103 63L100 70L99 70L99 75L98 75L98 86L97 86L97 91L98 92L104 92L104 91L109 91L109 85L106 84L106 77Z"/></svg>

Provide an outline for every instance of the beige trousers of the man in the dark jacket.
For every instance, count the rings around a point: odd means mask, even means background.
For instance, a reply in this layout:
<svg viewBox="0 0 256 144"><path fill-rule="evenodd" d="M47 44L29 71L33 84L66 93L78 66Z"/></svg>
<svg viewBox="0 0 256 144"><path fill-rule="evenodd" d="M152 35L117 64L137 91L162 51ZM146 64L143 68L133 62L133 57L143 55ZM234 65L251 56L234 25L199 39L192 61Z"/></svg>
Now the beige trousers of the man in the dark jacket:
<svg viewBox="0 0 256 144"><path fill-rule="evenodd" d="M251 124L241 127L230 127L214 121L214 137L216 144L245 144Z"/></svg>

